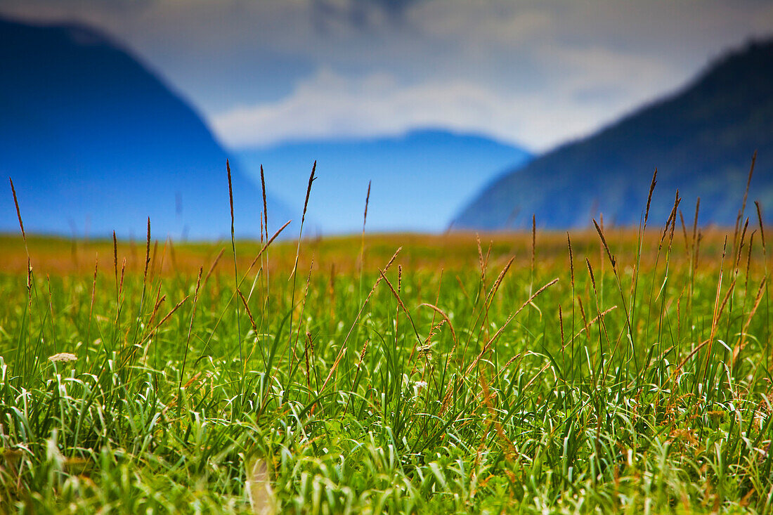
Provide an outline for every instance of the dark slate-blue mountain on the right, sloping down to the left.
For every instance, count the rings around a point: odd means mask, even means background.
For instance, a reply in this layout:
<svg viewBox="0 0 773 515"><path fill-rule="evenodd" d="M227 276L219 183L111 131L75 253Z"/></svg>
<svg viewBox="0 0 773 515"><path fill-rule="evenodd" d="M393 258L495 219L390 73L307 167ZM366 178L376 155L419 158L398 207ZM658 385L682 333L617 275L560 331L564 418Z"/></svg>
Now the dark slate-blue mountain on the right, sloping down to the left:
<svg viewBox="0 0 773 515"><path fill-rule="evenodd" d="M665 223L679 189L681 209L699 223L732 227L749 190L773 222L773 41L749 43L713 63L678 94L642 108L577 142L515 166L469 203L456 229L537 225L587 227L591 217L638 224L658 169L650 218ZM752 215L754 218L755 216Z"/></svg>

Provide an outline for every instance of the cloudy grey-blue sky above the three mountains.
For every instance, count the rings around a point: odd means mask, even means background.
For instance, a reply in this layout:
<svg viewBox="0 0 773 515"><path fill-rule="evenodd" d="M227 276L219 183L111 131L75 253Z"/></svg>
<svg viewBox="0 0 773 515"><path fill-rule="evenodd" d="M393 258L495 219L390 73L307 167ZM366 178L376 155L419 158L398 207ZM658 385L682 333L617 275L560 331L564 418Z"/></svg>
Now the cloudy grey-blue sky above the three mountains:
<svg viewBox="0 0 773 515"><path fill-rule="evenodd" d="M543 152L773 33L768 0L0 0L113 36L231 148L418 128Z"/></svg>

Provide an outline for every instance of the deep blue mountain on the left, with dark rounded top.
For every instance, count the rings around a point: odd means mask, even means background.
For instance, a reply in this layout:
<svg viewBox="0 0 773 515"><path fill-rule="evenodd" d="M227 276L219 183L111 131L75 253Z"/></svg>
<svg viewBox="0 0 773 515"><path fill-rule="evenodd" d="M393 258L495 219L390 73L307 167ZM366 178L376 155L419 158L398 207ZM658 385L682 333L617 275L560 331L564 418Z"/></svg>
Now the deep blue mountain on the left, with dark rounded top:
<svg viewBox="0 0 773 515"><path fill-rule="evenodd" d="M107 36L0 20L0 70L0 174L27 231L143 238L149 216L159 237L230 237L226 152ZM237 233L260 234L261 191L232 171ZM18 230L5 187L0 230Z"/></svg>

